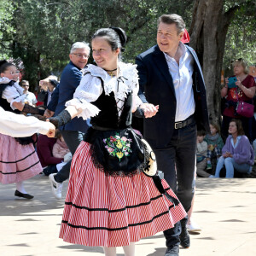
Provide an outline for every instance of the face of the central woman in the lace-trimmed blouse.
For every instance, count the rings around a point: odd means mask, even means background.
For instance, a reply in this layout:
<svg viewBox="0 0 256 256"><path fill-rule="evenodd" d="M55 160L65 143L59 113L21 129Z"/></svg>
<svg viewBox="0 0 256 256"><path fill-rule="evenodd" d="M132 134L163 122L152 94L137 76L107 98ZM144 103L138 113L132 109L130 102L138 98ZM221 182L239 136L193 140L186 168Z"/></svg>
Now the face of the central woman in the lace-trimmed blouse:
<svg viewBox="0 0 256 256"><path fill-rule="evenodd" d="M92 56L98 67L113 70L117 68L120 49L112 50L104 37L96 37L91 41Z"/></svg>

